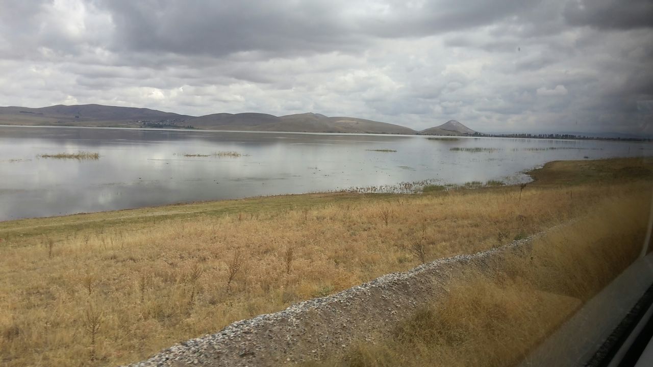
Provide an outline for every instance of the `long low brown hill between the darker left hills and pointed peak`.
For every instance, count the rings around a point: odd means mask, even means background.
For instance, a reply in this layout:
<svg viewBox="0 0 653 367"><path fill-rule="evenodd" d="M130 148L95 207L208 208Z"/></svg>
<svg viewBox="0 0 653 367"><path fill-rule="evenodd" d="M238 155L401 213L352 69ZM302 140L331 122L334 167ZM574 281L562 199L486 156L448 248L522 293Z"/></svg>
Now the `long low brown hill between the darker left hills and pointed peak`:
<svg viewBox="0 0 653 367"><path fill-rule="evenodd" d="M268 114L212 114L188 120L199 129L244 131L297 131L306 133L375 133L406 134L416 132L400 125L360 118L327 117L322 114L294 114L272 116Z"/></svg>

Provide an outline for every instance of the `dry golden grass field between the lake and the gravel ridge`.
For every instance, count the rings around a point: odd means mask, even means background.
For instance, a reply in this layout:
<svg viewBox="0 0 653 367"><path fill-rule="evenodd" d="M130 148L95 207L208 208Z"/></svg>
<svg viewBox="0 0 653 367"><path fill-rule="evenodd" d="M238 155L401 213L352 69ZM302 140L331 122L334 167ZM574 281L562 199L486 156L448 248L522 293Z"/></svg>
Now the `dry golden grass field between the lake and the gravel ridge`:
<svg viewBox="0 0 653 367"><path fill-rule="evenodd" d="M651 172L641 159L560 162L533 172L521 199L518 186L287 195L1 222L0 360L144 359L232 321L501 246L609 202L646 206ZM534 258L556 261L549 255ZM486 276L483 284L502 279Z"/></svg>

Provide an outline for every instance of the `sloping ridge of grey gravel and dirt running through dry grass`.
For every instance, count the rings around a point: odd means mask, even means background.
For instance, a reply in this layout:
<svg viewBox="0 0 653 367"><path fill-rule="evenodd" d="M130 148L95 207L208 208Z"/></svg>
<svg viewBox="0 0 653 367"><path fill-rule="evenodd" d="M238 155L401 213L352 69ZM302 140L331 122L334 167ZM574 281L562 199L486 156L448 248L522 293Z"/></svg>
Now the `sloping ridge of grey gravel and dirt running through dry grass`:
<svg viewBox="0 0 653 367"><path fill-rule="evenodd" d="M131 367L278 366L340 353L356 340L374 340L415 308L447 293L452 278L492 268L530 239L474 255L459 255L388 274L335 295L237 321L216 334L174 345Z"/></svg>

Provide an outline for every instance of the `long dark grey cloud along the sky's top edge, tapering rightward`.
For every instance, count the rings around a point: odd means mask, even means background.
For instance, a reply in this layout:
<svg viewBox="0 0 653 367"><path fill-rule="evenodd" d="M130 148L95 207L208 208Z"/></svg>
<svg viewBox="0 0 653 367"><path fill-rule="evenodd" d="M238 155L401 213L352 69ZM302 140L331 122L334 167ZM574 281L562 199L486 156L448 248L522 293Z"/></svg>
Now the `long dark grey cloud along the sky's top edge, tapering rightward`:
<svg viewBox="0 0 653 367"><path fill-rule="evenodd" d="M225 56L360 52L377 37L423 37L491 24L539 0L354 1L104 1L118 37L114 47ZM374 1L371 2L374 5Z"/></svg>

